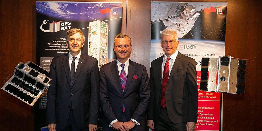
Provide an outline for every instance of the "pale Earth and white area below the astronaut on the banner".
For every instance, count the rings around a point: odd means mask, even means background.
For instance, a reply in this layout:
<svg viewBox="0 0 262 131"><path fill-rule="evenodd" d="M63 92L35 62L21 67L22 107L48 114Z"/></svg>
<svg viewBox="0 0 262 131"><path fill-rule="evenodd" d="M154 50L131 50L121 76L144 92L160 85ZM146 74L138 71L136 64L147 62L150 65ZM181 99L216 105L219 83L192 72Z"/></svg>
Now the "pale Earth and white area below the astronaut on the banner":
<svg viewBox="0 0 262 131"><path fill-rule="evenodd" d="M214 40L190 40L178 39L179 45L177 50L186 56L194 58L198 64L196 70L201 70L201 60L203 57L219 57L224 56L225 42ZM150 63L152 60L163 55L164 51L161 48L160 39L151 40Z"/></svg>

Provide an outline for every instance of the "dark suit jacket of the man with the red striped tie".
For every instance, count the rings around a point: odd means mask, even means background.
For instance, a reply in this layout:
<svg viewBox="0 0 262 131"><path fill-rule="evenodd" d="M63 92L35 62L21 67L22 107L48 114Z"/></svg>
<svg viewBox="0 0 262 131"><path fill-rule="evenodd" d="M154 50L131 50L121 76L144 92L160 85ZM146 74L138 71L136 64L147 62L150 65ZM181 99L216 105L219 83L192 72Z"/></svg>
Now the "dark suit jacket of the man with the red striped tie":
<svg viewBox="0 0 262 131"><path fill-rule="evenodd" d="M148 120L153 119L155 123L160 112L163 57L153 60L150 69ZM195 59L178 52L165 92L167 114L173 123L197 122L197 89Z"/></svg>

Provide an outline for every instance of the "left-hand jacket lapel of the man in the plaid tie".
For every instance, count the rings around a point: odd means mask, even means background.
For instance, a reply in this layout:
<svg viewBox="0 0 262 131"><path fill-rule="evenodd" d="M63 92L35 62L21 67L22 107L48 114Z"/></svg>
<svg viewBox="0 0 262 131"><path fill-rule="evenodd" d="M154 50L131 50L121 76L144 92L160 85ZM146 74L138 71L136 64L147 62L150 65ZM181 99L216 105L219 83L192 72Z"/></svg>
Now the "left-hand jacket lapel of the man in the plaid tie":
<svg viewBox="0 0 262 131"><path fill-rule="evenodd" d="M114 80L116 81L116 85L118 86L120 92L123 94L122 84L121 84L121 80L120 80L120 77L119 77L119 71L118 71L118 67L117 67L117 64L116 64L116 60L114 60L112 62L112 65L111 65L110 68L111 68Z"/></svg>

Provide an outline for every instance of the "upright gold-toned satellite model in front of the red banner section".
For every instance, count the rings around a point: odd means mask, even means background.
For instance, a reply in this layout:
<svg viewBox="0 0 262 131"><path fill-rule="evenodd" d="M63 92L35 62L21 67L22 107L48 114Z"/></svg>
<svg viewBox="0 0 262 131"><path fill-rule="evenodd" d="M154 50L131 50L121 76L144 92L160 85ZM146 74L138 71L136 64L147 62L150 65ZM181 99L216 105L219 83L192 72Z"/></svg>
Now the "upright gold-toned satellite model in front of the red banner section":
<svg viewBox="0 0 262 131"><path fill-rule="evenodd" d="M220 56L202 58L201 91L244 94L246 61Z"/></svg>

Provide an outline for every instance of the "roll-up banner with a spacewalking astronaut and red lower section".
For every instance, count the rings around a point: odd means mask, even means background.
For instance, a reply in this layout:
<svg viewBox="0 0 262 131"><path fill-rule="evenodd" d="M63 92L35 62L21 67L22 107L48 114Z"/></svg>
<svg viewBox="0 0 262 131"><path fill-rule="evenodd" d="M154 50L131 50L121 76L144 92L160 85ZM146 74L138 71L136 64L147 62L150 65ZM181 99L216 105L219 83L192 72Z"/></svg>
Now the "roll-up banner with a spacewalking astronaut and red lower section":
<svg viewBox="0 0 262 131"><path fill-rule="evenodd" d="M226 9L227 2L151 2L150 61L164 54L160 41L165 28L176 30L177 50L196 60L199 131L221 128L222 95L200 91L199 84L202 57L225 55Z"/></svg>

